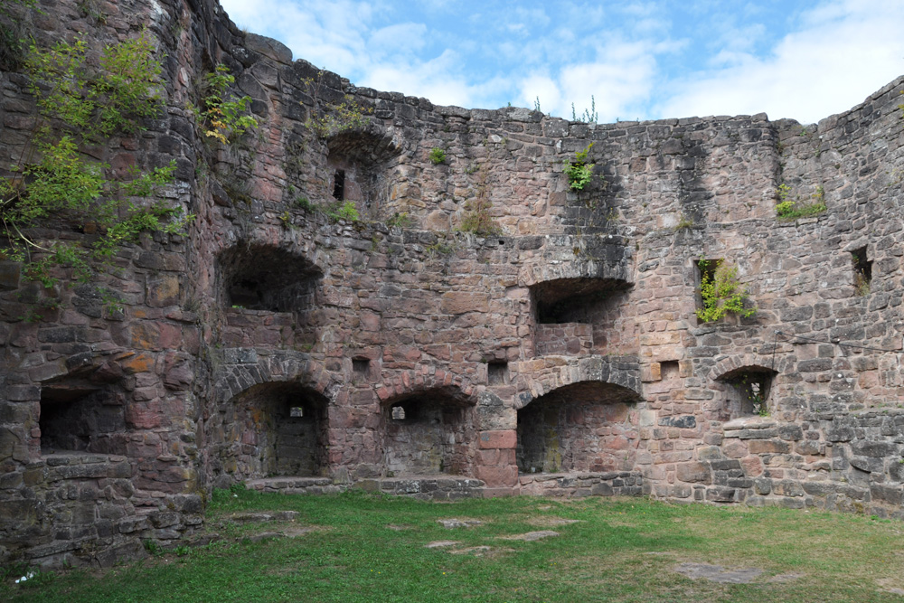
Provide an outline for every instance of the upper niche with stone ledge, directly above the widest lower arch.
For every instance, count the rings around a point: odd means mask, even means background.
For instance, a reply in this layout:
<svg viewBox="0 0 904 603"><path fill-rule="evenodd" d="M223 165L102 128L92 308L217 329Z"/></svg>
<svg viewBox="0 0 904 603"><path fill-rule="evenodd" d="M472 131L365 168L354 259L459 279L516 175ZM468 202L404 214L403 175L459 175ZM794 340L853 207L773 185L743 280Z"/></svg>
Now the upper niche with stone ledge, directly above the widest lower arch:
<svg viewBox="0 0 904 603"><path fill-rule="evenodd" d="M582 347L590 348L583 350L585 353L607 353L631 286L618 278L590 277L557 278L533 285L538 355L579 353Z"/></svg>

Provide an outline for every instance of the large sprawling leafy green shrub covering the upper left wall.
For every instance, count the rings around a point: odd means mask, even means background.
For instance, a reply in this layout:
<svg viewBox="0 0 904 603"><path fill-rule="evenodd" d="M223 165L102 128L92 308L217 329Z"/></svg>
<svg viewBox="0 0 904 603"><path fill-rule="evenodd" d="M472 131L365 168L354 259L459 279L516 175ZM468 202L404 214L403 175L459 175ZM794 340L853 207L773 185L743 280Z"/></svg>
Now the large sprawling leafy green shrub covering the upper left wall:
<svg viewBox="0 0 904 603"><path fill-rule="evenodd" d="M14 176L0 179L0 259L23 262L25 277L43 287L56 284L62 268L88 282L111 269L118 250L140 233L183 234L192 218L163 202L139 201L172 182L174 163L113 175L109 165L80 153L82 144L139 132L140 119L160 110L155 81L161 66L146 33L106 46L94 67L88 50L83 38L31 45L25 73L39 118ZM43 238L38 229L57 220L80 224L86 238Z"/></svg>

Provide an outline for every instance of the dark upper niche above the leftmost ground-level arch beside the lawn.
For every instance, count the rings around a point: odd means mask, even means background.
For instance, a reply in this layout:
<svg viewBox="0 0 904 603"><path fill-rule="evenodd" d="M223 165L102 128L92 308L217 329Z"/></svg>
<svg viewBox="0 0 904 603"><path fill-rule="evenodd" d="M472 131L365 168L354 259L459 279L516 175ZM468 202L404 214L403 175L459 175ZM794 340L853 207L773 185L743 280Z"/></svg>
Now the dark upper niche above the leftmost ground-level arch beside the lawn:
<svg viewBox="0 0 904 603"><path fill-rule="evenodd" d="M323 276L304 256L241 241L220 254L217 269L224 306L269 312L312 308L317 282Z"/></svg>

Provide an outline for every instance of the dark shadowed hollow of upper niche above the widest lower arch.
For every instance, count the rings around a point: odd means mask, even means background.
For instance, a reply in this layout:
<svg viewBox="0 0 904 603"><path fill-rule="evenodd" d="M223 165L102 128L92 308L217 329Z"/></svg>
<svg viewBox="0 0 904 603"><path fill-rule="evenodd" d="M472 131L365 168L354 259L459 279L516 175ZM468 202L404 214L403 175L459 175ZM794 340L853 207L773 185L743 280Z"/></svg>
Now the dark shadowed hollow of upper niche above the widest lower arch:
<svg viewBox="0 0 904 603"><path fill-rule="evenodd" d="M590 322L590 316L611 297L625 293L630 283L617 278L561 278L531 287L537 322L541 325Z"/></svg>

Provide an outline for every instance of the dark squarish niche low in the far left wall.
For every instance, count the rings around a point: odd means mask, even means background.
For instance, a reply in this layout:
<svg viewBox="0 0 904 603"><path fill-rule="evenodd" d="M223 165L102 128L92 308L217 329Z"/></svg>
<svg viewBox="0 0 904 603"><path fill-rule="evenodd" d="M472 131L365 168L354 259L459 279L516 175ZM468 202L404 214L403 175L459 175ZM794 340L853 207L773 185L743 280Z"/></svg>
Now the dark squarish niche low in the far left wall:
<svg viewBox="0 0 904 603"><path fill-rule="evenodd" d="M115 388L68 381L41 389L41 452L126 454L123 399Z"/></svg>

